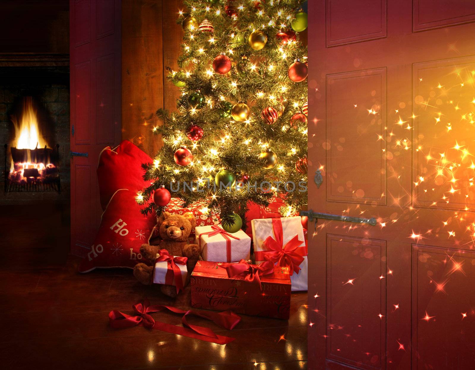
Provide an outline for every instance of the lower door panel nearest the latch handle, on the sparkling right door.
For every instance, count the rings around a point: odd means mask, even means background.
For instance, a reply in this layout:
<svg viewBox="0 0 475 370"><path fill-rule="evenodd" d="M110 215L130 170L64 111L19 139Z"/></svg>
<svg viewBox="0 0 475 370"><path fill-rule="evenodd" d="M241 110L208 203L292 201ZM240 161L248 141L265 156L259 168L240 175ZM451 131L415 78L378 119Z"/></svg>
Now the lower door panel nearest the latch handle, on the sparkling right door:
<svg viewBox="0 0 475 370"><path fill-rule="evenodd" d="M386 283L379 278L386 272L384 257L382 240L327 234L328 359L386 368Z"/></svg>

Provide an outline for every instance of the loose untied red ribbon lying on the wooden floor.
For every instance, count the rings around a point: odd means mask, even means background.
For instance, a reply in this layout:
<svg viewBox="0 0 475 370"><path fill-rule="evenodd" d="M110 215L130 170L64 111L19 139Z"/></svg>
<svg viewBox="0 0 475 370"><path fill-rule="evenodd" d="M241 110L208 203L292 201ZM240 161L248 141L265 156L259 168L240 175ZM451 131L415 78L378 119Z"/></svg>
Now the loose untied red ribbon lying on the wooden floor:
<svg viewBox="0 0 475 370"><path fill-rule="evenodd" d="M113 310L109 313L109 324L112 328L131 328L133 326L144 326L149 329L161 330L171 334L183 335L185 337L199 339L201 341L212 342L217 344L227 344L235 340L235 338L225 337L218 335L209 328L203 326L191 325L186 321L186 316L194 315L199 316L207 320L222 326L225 329L232 330L241 317L232 311L213 312L213 313L200 313L196 311L183 311L179 308L162 305L150 305L148 300L139 302L132 306L133 310L138 313L137 316L128 315L126 313ZM159 312L162 310L169 310L173 313L183 314L181 323L183 326L177 326L160 321L153 320L151 313Z"/></svg>

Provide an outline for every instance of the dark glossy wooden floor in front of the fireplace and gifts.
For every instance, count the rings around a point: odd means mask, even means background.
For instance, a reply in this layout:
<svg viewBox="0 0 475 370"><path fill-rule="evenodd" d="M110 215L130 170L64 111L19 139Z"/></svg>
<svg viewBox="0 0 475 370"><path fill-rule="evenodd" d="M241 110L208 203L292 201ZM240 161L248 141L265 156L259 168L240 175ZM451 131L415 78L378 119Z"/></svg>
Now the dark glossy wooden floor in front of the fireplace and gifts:
<svg viewBox="0 0 475 370"><path fill-rule="evenodd" d="M306 293L292 294L288 322L243 315L228 331L190 318L190 323L236 338L224 346L143 327L111 329L109 311L132 314L132 304L145 297L151 304L189 308L190 289L175 302L137 283L129 269L80 275L80 259L67 256L66 206L48 208L40 217L35 207L0 210L2 369L307 368ZM153 317L180 324L179 315Z"/></svg>

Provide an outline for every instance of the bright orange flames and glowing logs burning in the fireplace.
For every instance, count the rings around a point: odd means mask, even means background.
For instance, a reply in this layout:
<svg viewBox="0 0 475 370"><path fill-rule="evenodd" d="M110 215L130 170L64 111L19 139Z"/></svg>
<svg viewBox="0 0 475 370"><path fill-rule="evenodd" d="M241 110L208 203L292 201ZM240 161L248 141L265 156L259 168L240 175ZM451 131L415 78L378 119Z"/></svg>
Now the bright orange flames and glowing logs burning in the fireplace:
<svg viewBox="0 0 475 370"><path fill-rule="evenodd" d="M48 171L49 169L54 169L56 166L50 163L49 155L45 155L51 149L48 148L47 142L41 135L37 112L33 107L31 97L24 99L22 108L19 121L17 121L16 117L12 117L15 136L11 142L10 180L22 181L25 180L24 178L27 178L27 180L41 179L50 172ZM38 151L41 152L42 149L43 152L38 156ZM15 161L13 156L14 150L23 154L22 161ZM37 152L36 155L33 152ZM38 160L38 158L41 158L41 160ZM26 175L25 171L27 172Z"/></svg>

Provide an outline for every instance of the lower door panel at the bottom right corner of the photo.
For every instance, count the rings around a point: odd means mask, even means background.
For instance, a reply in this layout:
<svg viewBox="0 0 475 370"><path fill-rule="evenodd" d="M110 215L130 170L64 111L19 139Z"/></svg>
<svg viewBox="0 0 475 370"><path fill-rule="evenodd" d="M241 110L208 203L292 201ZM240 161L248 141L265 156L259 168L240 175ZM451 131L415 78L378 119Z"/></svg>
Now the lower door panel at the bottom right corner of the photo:
<svg viewBox="0 0 475 370"><path fill-rule="evenodd" d="M472 369L475 253L414 244L412 268L412 368Z"/></svg>

